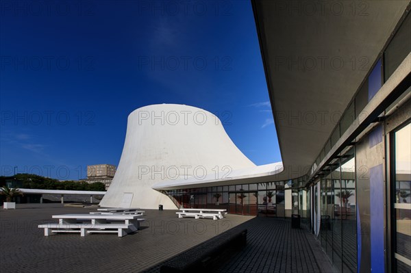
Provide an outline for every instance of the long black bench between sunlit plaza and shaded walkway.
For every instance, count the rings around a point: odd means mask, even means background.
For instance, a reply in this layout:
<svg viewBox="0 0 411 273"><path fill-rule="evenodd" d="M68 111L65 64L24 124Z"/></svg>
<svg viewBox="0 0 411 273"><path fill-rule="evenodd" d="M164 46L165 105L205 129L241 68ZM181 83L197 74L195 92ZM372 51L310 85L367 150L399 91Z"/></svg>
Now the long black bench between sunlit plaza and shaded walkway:
<svg viewBox="0 0 411 273"><path fill-rule="evenodd" d="M210 267L216 265L219 259L246 245L247 229L230 229L166 261L160 272L210 272Z"/></svg>

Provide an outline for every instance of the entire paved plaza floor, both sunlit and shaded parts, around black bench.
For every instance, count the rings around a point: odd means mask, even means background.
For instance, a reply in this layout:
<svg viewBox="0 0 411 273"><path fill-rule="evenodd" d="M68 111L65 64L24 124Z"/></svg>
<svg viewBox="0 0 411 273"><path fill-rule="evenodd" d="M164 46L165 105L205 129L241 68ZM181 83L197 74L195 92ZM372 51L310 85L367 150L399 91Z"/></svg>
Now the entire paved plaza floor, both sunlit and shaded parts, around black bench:
<svg viewBox="0 0 411 273"><path fill-rule="evenodd" d="M175 211L146 210L142 229L125 237L101 233L45 237L37 227L56 222L51 219L54 214L96 209L60 204L0 209L0 272L159 272L164 261L238 225L249 231L247 247L212 271L332 272L314 237L303 229L290 229L287 219L231 214L215 221L179 219Z"/></svg>

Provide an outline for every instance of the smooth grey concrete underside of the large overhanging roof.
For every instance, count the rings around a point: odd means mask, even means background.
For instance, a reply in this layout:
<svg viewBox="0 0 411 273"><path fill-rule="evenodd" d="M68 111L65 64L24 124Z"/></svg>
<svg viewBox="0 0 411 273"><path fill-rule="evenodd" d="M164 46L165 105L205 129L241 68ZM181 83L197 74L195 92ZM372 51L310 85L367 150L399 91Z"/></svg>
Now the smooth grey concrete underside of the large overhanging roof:
<svg viewBox="0 0 411 273"><path fill-rule="evenodd" d="M307 168L410 1L252 3L284 169Z"/></svg>

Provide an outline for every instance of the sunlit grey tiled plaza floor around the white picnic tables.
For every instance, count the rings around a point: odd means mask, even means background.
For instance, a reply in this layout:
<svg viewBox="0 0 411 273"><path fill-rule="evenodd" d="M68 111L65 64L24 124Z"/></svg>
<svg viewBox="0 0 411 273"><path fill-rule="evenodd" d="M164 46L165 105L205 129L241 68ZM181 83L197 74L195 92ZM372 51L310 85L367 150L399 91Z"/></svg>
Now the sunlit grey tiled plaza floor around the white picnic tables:
<svg viewBox="0 0 411 273"><path fill-rule="evenodd" d="M38 224L53 214L88 213L96 208L60 204L0 209L0 272L140 272L226 231L249 216L224 220L179 219L175 211L146 210L142 230L125 237L60 233L45 237Z"/></svg>

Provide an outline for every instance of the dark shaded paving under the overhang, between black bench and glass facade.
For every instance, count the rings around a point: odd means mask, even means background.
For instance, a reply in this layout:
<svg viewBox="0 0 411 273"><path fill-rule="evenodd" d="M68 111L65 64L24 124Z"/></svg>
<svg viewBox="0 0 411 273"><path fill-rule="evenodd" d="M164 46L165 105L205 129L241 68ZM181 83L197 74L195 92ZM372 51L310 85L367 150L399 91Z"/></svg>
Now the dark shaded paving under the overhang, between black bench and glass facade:
<svg viewBox="0 0 411 273"><path fill-rule="evenodd" d="M248 229L247 247L210 272L335 272L314 236L291 229L290 219L258 217L240 226Z"/></svg>

